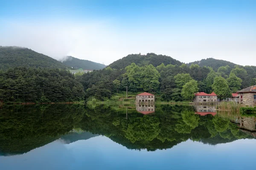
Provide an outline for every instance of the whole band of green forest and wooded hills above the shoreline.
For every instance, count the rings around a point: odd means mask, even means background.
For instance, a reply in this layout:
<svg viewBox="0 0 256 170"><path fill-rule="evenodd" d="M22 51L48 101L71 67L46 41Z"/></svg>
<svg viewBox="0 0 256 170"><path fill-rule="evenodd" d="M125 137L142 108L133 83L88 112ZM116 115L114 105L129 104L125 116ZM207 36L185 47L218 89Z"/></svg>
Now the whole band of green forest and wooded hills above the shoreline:
<svg viewBox="0 0 256 170"><path fill-rule="evenodd" d="M186 65L153 53L131 54L102 70L72 75L60 68L54 69L58 64L62 67L61 62L27 48L1 47L0 50L0 57L4 56L0 62L8 63L0 64L0 101L3 102L104 101L126 91L126 87L128 92L156 94L156 99L162 101L192 101L194 94L200 91L208 94L214 91L219 99L225 99L242 88L256 85L256 66L240 66L216 59L201 60L200 66ZM34 53L40 59L36 60ZM20 57L27 65L15 68L23 65L23 61L12 61L11 56ZM70 61L80 60L72 58ZM6 70L11 63L14 68ZM41 68L47 66L50 68Z"/></svg>

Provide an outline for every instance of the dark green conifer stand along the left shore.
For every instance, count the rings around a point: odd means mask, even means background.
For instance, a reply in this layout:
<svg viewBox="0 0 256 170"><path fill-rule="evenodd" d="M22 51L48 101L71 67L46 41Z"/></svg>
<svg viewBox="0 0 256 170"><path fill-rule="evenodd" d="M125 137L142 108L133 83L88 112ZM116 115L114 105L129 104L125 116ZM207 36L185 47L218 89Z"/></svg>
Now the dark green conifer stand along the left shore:
<svg viewBox="0 0 256 170"><path fill-rule="evenodd" d="M72 102L84 100L84 88L69 71L10 68L0 71L2 102Z"/></svg>

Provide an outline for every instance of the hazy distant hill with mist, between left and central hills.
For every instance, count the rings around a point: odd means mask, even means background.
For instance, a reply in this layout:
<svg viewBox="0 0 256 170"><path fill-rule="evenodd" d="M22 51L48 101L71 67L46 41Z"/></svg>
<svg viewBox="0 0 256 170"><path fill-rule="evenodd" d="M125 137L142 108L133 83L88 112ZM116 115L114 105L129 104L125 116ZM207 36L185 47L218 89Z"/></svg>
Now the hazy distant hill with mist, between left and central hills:
<svg viewBox="0 0 256 170"><path fill-rule="evenodd" d="M73 67L74 69L83 68L84 70L100 70L106 67L104 64L85 59L78 59L72 56L67 56L67 59L63 61L63 64Z"/></svg>

